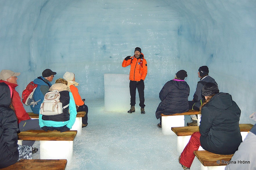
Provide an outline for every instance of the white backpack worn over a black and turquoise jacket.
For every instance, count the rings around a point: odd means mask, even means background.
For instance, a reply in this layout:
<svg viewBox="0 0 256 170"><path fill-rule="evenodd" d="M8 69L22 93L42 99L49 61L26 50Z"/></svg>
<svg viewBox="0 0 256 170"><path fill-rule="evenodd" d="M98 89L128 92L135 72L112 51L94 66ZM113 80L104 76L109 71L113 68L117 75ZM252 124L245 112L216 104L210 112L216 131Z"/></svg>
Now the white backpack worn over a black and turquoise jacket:
<svg viewBox="0 0 256 170"><path fill-rule="evenodd" d="M58 90L46 93L40 107L40 114L47 116L61 114L62 110L68 107L69 104L62 107L59 98L60 94Z"/></svg>

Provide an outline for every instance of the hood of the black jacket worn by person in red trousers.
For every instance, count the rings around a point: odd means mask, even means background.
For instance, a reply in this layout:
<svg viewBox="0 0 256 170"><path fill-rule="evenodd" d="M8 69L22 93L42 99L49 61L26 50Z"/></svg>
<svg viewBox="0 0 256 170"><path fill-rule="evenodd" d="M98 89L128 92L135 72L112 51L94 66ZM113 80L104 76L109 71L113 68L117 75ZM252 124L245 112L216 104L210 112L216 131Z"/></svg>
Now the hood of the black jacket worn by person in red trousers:
<svg viewBox="0 0 256 170"><path fill-rule="evenodd" d="M228 93L220 92L215 94L206 105L212 105L218 109L226 110L232 105L232 96Z"/></svg>

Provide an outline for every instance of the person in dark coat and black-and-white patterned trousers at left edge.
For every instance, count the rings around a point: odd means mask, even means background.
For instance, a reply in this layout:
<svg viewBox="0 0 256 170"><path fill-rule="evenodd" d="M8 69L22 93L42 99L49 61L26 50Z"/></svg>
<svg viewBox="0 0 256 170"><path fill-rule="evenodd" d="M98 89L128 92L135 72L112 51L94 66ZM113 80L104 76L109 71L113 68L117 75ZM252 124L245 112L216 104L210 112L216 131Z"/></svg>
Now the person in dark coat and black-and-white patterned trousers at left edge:
<svg viewBox="0 0 256 170"><path fill-rule="evenodd" d="M32 147L18 145L17 117L10 108L12 88L0 83L0 168L8 167L20 159L32 159Z"/></svg>

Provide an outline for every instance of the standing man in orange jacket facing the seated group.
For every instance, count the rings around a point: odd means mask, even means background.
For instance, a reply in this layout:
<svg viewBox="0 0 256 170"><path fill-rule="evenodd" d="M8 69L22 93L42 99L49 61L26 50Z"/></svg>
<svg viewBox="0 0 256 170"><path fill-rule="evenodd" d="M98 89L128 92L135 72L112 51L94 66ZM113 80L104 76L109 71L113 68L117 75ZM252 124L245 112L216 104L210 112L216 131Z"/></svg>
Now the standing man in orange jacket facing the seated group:
<svg viewBox="0 0 256 170"><path fill-rule="evenodd" d="M138 89L139 93L139 106L141 114L145 114L145 105L144 105L144 80L146 78L148 72L147 61L144 59L144 54L141 53L141 48L136 47L134 50L133 56L127 56L123 63L122 67L127 67L131 65L130 68L130 96L131 96L131 108L128 110L128 113L135 112L135 95L136 95L136 88Z"/></svg>

